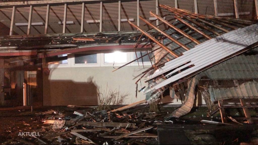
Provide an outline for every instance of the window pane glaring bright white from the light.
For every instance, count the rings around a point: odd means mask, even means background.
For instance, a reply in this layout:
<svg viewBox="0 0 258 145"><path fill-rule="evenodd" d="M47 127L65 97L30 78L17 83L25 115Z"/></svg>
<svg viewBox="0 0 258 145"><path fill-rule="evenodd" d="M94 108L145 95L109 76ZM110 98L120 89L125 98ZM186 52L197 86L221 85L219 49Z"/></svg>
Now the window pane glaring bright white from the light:
<svg viewBox="0 0 258 145"><path fill-rule="evenodd" d="M105 63L124 63L127 62L127 53L126 52L113 52L104 54Z"/></svg>

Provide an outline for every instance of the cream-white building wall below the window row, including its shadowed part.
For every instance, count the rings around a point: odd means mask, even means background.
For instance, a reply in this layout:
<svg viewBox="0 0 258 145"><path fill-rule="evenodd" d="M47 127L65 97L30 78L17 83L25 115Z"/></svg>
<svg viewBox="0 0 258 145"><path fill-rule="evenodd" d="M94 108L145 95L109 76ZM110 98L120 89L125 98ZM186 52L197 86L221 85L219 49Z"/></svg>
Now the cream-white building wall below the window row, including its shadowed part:
<svg viewBox="0 0 258 145"><path fill-rule="evenodd" d="M123 99L123 104L130 104L145 99L143 91L138 92L137 98L135 98L135 82L139 78L137 76L145 69L141 66L126 66L115 72L112 72L112 70L114 70L113 67L50 68L49 75L43 74L43 104L52 106L69 104L94 105L91 99L96 97L94 96L96 93L92 93L96 90L92 85L106 90L107 84L108 90L117 90L120 95L126 96ZM89 83L91 80L92 83ZM69 85L67 86L66 84ZM87 89L89 87L88 84L91 84L90 90ZM142 79L141 83L138 84L138 90L145 85L146 83ZM85 95L82 96L82 94ZM78 97L80 100L71 102L71 100Z"/></svg>

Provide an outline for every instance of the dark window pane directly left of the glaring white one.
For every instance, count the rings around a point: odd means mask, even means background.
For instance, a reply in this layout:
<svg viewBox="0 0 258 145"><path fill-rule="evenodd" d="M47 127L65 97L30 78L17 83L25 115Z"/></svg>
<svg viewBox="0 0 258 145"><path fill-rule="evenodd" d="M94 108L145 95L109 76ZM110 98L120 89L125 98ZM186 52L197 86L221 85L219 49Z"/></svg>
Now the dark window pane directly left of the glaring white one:
<svg viewBox="0 0 258 145"><path fill-rule="evenodd" d="M75 54L74 63L75 64L97 63L97 54Z"/></svg>

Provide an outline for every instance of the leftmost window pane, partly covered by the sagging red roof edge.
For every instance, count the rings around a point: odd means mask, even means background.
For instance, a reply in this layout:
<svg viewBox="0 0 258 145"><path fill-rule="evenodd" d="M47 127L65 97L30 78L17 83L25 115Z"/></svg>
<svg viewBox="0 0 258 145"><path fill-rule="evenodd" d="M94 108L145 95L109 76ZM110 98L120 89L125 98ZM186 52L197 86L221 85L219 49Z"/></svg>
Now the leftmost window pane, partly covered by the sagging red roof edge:
<svg viewBox="0 0 258 145"><path fill-rule="evenodd" d="M67 54L56 55L53 57L47 57L46 63L48 65L68 64Z"/></svg>

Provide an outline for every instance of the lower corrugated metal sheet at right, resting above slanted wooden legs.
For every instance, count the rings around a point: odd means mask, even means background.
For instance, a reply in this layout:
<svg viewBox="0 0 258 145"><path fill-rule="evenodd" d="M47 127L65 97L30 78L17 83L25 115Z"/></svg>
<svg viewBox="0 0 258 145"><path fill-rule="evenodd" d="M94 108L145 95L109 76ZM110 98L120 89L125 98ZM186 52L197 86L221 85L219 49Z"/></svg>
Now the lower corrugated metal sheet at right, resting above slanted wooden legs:
<svg viewBox="0 0 258 145"><path fill-rule="evenodd" d="M236 87L222 88L210 87L209 93L212 101L225 99L253 99L258 98L258 82L245 82Z"/></svg>

